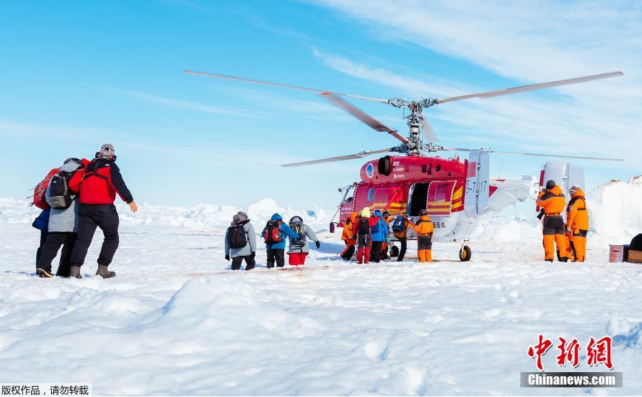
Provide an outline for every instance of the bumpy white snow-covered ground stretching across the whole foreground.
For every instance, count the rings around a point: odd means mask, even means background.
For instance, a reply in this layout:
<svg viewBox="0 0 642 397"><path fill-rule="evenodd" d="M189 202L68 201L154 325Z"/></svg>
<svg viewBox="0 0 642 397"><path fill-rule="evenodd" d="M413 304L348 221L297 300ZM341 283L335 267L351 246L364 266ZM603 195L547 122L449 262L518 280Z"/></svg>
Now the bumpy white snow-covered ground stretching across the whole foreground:
<svg viewBox="0 0 642 397"><path fill-rule="evenodd" d="M610 209L614 189L642 198L642 186L623 185L593 193L589 206ZM459 246L435 244L432 264L357 267L337 258L332 211L280 209L321 231L321 250L305 269L281 271L265 269L259 250L249 272L228 271L223 258L231 206L120 208L117 278L92 275L97 235L84 279L66 280L35 277L36 211L2 199L0 383L92 383L105 395L639 395L642 265L609 264L605 242L642 232L640 202L623 203L634 212L621 218L594 215L605 230L632 221L619 235L593 233L583 264L542 262L537 222L499 217L478 230L471 262L457 260ZM260 229L275 208L247 210ZM623 389L520 389L520 371L536 370L527 349L538 333L583 346L619 334Z"/></svg>

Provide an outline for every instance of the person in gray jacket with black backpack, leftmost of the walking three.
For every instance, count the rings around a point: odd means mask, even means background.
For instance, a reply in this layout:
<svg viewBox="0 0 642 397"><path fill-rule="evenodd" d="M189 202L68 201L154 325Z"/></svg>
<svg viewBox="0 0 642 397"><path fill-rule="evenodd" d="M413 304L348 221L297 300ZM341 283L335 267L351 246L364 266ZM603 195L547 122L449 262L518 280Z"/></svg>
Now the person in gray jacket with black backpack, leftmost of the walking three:
<svg viewBox="0 0 642 397"><path fill-rule="evenodd" d="M232 218L232 224L225 232L225 260L232 258L232 270L240 269L245 260L245 270L252 270L256 265L256 233L249 223L247 213L238 211Z"/></svg>

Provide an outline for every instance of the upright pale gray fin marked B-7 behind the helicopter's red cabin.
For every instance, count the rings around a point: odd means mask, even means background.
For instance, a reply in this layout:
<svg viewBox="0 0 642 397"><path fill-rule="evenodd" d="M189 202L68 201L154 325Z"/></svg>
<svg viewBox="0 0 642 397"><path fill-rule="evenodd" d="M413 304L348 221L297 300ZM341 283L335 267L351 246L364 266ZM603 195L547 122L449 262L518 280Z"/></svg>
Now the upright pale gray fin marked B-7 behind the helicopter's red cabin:
<svg viewBox="0 0 642 397"><path fill-rule="evenodd" d="M464 212L467 217L479 215L488 206L489 156L485 151L473 151L468 158Z"/></svg>

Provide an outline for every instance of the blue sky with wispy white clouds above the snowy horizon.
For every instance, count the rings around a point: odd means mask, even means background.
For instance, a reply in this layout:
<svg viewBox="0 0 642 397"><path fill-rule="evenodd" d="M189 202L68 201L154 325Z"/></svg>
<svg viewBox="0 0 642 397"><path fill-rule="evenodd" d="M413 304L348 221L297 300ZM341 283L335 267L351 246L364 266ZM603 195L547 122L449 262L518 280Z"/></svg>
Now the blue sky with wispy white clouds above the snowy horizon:
<svg viewBox="0 0 642 397"><path fill-rule="evenodd" d="M626 159L580 163L589 188L642 173L636 1L3 1L0 26L0 197L111 142L138 202L330 209L362 160L278 164L395 144L312 93L184 69L408 98L623 70L427 114L444 146ZM400 110L352 103L406 127ZM491 155L491 176L544 162Z"/></svg>

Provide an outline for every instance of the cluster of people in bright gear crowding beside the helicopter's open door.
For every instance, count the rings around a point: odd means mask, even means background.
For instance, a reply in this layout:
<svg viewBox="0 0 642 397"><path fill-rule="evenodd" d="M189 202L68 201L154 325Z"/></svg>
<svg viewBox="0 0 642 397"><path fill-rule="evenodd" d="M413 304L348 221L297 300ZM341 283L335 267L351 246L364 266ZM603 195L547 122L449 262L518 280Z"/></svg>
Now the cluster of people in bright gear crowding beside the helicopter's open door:
<svg viewBox="0 0 642 397"><path fill-rule="evenodd" d="M392 222L392 226L390 223ZM419 262L433 262L432 245L435 225L425 209L419 211L419 220L413 223L404 212L390 216L387 211L375 210L368 207L361 212L354 212L343 224L341 240L345 242L346 249L341 253L343 260L351 260L357 251L357 264L378 263L388 259L388 238L390 231L399 241L401 249L397 255L397 262L404 260L408 248L408 229L413 228L417 233L417 255Z"/></svg>

